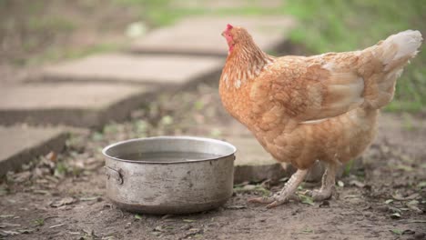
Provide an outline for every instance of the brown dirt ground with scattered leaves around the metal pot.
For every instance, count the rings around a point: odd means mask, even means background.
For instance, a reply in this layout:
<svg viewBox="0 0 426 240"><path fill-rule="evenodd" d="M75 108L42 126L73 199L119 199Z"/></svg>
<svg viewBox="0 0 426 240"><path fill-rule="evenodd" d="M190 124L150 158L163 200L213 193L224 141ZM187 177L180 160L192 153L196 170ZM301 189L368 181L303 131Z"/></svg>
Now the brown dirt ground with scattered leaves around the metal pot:
<svg viewBox="0 0 426 240"><path fill-rule="evenodd" d="M425 239L426 121L384 114L363 165L340 179L339 196L273 209L249 204L260 185L244 183L226 205L194 215L136 215L106 198L100 149L146 135L221 138L237 127L218 101L217 83L158 95L133 120L101 132L77 131L59 155L46 155L0 185L5 239ZM142 120L144 119L144 120ZM285 179L283 179L285 180ZM246 186L244 186L246 185ZM317 186L305 183L303 189ZM246 189L246 191L241 191ZM259 189L259 188L258 188Z"/></svg>

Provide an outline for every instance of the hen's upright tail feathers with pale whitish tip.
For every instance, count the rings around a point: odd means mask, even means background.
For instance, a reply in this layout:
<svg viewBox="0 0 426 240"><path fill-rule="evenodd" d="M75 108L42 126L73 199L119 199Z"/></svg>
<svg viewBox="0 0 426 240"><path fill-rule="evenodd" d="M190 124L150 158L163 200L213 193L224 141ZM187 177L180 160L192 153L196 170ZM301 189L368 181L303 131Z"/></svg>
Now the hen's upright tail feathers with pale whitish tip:
<svg viewBox="0 0 426 240"><path fill-rule="evenodd" d="M375 94L365 96L365 107L377 109L391 102L396 80L402 74L403 67L419 52L422 40L419 31L407 30L391 35L375 46L373 55L379 57L383 69L381 74L371 75L370 80L375 82L376 89L372 91Z"/></svg>

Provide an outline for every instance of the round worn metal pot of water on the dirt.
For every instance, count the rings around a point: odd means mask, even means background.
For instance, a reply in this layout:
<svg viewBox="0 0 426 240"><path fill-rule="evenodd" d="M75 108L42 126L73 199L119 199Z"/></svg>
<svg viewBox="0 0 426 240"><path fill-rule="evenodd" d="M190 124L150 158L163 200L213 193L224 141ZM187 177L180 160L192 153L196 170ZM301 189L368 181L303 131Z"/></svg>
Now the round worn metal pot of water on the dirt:
<svg viewBox="0 0 426 240"><path fill-rule="evenodd" d="M156 162L144 154L192 152L217 155ZM106 195L118 207L146 214L188 214L216 208L232 195L236 148L215 139L158 136L106 146ZM141 159L121 159L140 154Z"/></svg>

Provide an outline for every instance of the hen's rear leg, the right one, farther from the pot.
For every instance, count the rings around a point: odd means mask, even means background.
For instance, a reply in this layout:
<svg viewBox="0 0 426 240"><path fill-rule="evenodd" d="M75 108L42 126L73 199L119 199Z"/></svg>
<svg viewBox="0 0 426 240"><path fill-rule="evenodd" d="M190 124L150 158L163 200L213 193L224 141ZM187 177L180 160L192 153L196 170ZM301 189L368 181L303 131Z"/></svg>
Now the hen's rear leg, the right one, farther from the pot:
<svg viewBox="0 0 426 240"><path fill-rule="evenodd" d="M320 190L314 190L310 192L314 201L322 201L330 198L334 191L336 171L336 164L327 163L324 175L322 175L322 185Z"/></svg>

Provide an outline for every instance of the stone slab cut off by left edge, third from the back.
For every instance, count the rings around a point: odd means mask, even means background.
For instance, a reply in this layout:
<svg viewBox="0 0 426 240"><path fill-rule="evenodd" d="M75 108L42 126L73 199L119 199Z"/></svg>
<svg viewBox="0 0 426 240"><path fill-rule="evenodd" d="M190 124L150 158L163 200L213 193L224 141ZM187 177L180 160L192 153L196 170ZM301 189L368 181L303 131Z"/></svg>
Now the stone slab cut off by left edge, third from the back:
<svg viewBox="0 0 426 240"><path fill-rule="evenodd" d="M0 88L0 125L94 127L127 118L155 88L113 84L27 84Z"/></svg>

